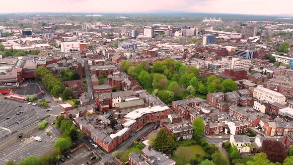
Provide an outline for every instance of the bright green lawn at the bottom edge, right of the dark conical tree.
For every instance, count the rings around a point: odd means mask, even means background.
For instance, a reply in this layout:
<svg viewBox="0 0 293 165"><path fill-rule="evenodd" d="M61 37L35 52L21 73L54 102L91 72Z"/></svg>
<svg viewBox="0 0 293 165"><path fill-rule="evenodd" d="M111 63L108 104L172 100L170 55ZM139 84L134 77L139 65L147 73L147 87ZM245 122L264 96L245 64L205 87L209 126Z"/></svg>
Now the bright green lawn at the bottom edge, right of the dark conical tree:
<svg viewBox="0 0 293 165"><path fill-rule="evenodd" d="M206 156L206 152L202 146L179 146L171 158L176 162L176 165L185 165L190 163L190 161L194 159L196 155Z"/></svg>

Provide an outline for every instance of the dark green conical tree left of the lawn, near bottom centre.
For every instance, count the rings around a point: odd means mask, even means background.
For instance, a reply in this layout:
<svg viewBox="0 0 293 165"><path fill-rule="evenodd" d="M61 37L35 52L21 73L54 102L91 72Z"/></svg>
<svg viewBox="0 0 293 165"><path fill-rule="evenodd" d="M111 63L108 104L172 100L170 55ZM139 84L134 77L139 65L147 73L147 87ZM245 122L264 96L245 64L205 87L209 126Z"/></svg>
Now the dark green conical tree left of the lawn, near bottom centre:
<svg viewBox="0 0 293 165"><path fill-rule="evenodd" d="M160 129L153 143L156 151L171 155L175 150L175 142L165 129Z"/></svg>

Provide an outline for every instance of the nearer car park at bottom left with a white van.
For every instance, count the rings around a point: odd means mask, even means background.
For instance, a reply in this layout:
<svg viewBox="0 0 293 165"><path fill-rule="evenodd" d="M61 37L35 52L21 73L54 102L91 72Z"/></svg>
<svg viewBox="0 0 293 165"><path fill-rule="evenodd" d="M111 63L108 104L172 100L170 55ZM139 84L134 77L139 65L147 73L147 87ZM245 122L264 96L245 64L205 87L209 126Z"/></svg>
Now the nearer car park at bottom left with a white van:
<svg viewBox="0 0 293 165"><path fill-rule="evenodd" d="M61 131L55 125L49 126L46 129L51 133L48 136L45 130L37 130L27 137L23 138L23 142L18 141L6 149L0 151L0 165L6 165L8 161L18 163L21 159L28 156L40 157L53 148L54 143L61 135ZM42 138L42 142L35 140L35 137Z"/></svg>

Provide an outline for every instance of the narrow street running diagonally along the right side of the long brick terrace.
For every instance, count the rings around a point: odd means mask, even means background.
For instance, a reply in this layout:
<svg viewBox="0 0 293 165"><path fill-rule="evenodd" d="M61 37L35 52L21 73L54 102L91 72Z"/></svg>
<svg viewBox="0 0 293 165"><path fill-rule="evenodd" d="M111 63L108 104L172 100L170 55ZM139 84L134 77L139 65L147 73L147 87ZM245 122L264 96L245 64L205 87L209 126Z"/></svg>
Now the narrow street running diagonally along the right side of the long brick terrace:
<svg viewBox="0 0 293 165"><path fill-rule="evenodd" d="M151 127L154 127L156 125L156 123L151 123L148 124L147 126L145 126L141 131L139 131L138 133L136 133L135 136L129 138L128 140L124 141L122 144L120 144L115 150L113 150L111 153L107 154L103 160L101 161L101 163L105 163L105 162L112 162L113 160L113 155L112 153L114 151L121 151L121 150L125 150L127 147L129 147L134 141L137 141L144 133L146 133Z"/></svg>

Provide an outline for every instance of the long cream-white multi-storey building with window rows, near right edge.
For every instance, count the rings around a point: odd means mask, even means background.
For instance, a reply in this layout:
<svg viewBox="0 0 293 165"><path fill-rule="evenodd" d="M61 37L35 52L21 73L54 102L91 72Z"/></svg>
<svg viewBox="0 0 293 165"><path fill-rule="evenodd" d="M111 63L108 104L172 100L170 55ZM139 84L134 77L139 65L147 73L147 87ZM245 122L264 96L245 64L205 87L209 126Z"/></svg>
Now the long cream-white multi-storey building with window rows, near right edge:
<svg viewBox="0 0 293 165"><path fill-rule="evenodd" d="M256 99L267 99L271 102L278 102L280 104L286 104L286 97L284 94L265 88L263 85L258 85L253 90L253 97Z"/></svg>

